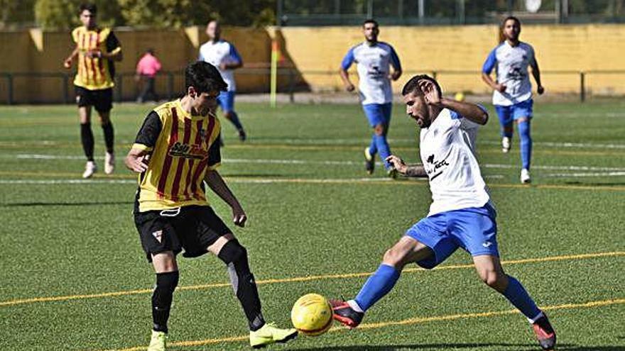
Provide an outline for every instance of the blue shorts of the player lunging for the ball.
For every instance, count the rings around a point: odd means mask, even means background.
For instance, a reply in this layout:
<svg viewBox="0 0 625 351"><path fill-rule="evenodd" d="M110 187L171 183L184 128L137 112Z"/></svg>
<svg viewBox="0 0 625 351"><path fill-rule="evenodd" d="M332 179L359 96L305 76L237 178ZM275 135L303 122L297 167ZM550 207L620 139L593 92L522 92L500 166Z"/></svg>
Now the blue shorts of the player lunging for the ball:
<svg viewBox="0 0 625 351"><path fill-rule="evenodd" d="M417 262L432 269L447 260L458 247L472 256L499 257L496 211L491 204L436 213L418 221L406 235L430 247L433 257Z"/></svg>

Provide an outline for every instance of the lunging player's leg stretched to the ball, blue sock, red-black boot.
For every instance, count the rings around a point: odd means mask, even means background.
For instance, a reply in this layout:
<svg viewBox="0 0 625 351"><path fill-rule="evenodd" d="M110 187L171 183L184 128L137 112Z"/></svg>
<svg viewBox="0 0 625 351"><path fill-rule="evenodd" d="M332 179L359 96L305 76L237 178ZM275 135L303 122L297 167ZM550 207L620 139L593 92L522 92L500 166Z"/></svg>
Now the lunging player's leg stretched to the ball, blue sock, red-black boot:
<svg viewBox="0 0 625 351"><path fill-rule="evenodd" d="M347 328L356 328L362 322L366 310L393 289L406 264L424 260L430 255L432 251L428 247L404 236L386 251L382 263L354 299L330 300L333 317Z"/></svg>

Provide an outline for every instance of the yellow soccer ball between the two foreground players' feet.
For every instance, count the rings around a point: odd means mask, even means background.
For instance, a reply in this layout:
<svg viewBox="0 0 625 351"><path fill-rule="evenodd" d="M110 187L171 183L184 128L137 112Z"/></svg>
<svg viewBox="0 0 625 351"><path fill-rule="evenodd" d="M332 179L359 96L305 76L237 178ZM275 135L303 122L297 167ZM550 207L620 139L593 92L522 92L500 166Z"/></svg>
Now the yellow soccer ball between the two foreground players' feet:
<svg viewBox="0 0 625 351"><path fill-rule="evenodd" d="M320 294L306 294L295 301L290 320L300 333L322 335L332 327L332 306Z"/></svg>

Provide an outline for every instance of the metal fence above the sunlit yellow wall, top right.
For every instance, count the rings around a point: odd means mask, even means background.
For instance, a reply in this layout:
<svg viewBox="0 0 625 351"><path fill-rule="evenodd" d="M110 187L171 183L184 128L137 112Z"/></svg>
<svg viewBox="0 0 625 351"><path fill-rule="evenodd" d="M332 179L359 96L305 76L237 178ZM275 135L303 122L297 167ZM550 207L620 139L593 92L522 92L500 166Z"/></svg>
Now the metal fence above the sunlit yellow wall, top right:
<svg viewBox="0 0 625 351"><path fill-rule="evenodd" d="M278 26L345 26L376 18L384 25L625 22L624 0L278 0Z"/></svg>

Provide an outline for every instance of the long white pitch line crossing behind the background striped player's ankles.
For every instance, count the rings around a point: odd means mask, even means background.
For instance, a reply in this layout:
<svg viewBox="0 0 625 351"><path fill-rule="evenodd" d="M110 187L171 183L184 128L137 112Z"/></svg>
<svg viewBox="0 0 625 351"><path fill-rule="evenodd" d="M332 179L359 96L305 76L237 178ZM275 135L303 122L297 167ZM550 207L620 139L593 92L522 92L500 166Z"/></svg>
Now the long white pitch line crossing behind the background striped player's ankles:
<svg viewBox="0 0 625 351"><path fill-rule="evenodd" d="M85 160L84 156L79 155L42 155L42 154L18 154L18 155L2 155L1 157L16 157L21 160ZM104 157L95 157L104 159ZM274 160L274 159L244 159L244 158L227 158L225 163L257 163L257 164L273 164L273 165L328 165L328 166L345 166L345 165L362 165L362 162L356 161L315 161L315 160ZM381 165L381 162L376 162ZM517 169L516 165L500 165L485 164L484 168L493 169ZM532 166L532 169L545 169L555 171L594 171L594 172L625 172L625 168L619 167L593 167L593 166ZM614 174L620 175L620 174ZM557 176L554 176L557 177Z"/></svg>

